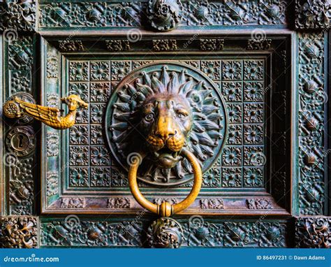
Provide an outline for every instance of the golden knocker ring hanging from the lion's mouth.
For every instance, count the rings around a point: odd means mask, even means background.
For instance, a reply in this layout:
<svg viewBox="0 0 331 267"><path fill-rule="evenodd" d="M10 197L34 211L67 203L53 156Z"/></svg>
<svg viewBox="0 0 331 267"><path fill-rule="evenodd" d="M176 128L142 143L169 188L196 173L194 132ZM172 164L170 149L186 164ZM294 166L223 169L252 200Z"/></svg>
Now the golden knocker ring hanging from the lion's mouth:
<svg viewBox="0 0 331 267"><path fill-rule="evenodd" d="M170 217L171 215L188 208L196 200L196 197L198 196L201 189L201 184L203 182L203 173L201 171L200 164L198 163L198 159L196 159L193 153L189 152L189 150L183 149L180 154L183 157L186 157L186 159L192 165L194 182L189 196L186 196L186 199L175 205L171 205L166 201L161 203L161 205L156 205L145 199L145 196L142 196L138 188L138 182L137 182L137 171L138 171L138 166L140 165L140 162L138 160L136 160L133 164L131 164L130 170L128 171L128 185L135 200L143 208L149 210L150 212L154 212L162 217ZM143 158L144 157L142 157L142 159Z"/></svg>

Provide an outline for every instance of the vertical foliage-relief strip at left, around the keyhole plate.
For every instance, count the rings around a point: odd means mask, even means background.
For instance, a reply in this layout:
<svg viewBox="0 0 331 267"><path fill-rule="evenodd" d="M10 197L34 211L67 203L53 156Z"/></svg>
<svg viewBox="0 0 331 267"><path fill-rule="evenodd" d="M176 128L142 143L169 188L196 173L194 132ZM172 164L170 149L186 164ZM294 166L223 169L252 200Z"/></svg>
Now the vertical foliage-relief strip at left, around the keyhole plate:
<svg viewBox="0 0 331 267"><path fill-rule="evenodd" d="M35 102L34 89L36 36L16 36L13 41L3 38L3 102L20 95ZM36 126L33 120L3 120L3 176L7 178L5 210L10 215L34 214L34 177L36 169ZM24 139L20 146L18 138Z"/></svg>

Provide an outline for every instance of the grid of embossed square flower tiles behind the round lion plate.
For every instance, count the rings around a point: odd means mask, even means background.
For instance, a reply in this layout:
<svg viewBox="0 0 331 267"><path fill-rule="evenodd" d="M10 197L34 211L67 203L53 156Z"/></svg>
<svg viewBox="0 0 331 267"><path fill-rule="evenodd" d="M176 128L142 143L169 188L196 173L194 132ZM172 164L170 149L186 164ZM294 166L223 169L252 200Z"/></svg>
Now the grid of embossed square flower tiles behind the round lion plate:
<svg viewBox="0 0 331 267"><path fill-rule="evenodd" d="M105 106L112 88L135 68L152 60L91 60L68 63L70 94L89 103L79 110L70 130L70 171L73 188L126 187L121 169L113 166L105 145ZM226 101L228 138L220 158L204 174L203 187L263 187L265 164L265 59L182 60L211 78ZM142 185L143 186L143 185ZM189 186L189 185L184 185Z"/></svg>

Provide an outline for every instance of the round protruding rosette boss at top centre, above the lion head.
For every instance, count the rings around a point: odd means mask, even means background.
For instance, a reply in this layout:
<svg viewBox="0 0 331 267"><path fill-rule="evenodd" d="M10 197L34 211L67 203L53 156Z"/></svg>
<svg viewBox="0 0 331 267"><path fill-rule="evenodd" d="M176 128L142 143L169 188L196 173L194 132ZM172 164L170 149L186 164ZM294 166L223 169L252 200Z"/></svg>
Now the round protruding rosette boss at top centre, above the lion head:
<svg viewBox="0 0 331 267"><path fill-rule="evenodd" d="M171 31L182 20L180 0L151 0L147 6L147 17L153 29Z"/></svg>

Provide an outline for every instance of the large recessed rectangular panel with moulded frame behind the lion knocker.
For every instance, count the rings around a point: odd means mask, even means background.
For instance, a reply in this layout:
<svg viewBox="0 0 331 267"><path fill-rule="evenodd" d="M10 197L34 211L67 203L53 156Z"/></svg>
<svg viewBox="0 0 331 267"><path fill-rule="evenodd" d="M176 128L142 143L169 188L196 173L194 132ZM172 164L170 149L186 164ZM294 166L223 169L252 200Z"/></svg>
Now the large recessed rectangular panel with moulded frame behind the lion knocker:
<svg viewBox="0 0 331 267"><path fill-rule="evenodd" d="M287 36L263 42L222 36L43 39L43 104L60 107L58 99L68 94L78 94L89 103L87 110L78 110L70 130L43 128L43 212L120 214L140 210L128 192L127 173L111 156L105 110L115 88L129 73L152 62L179 62L214 82L228 120L220 154L213 151L213 145L204 145L203 150L193 146L210 168L204 174L199 199L186 213L286 215L290 180L288 168L284 168L288 159L282 156L289 149L288 47ZM240 52L242 49L246 52ZM282 71L276 73L279 69ZM206 123L195 126L198 136L203 127L218 127ZM209 154L215 154L214 164ZM162 184L164 175L153 178L156 184ZM176 186L166 192L144 182L140 187L154 203L163 199L177 203L188 194L192 182L180 182L173 173L169 179Z"/></svg>

